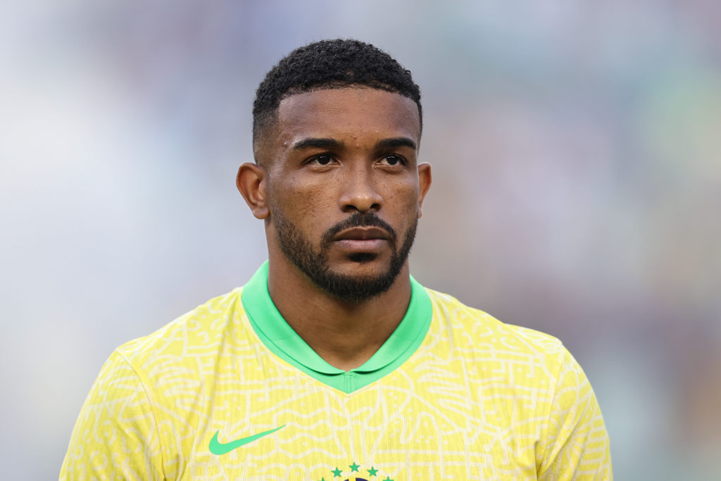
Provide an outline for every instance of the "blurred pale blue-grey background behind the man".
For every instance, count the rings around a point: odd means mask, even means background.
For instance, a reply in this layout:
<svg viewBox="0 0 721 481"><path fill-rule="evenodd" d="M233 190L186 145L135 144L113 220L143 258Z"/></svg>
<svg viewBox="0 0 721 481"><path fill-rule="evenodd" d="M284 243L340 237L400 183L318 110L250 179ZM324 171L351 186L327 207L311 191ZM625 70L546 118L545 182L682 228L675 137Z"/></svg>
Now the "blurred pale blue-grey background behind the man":
<svg viewBox="0 0 721 481"><path fill-rule="evenodd" d="M617 480L718 480L721 3L7 2L2 477L56 478L100 366L265 260L265 72L357 37L420 85L412 272L584 366Z"/></svg>

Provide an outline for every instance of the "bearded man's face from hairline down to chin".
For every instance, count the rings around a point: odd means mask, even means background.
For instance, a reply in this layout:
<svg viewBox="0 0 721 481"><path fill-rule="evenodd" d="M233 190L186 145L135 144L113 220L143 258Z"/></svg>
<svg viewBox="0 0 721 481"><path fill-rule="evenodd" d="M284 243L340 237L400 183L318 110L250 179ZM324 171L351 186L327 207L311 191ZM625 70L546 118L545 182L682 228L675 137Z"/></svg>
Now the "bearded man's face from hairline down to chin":
<svg viewBox="0 0 721 481"><path fill-rule="evenodd" d="M260 147L267 235L339 299L392 286L415 237L430 166L417 165L415 102L378 89L327 89L280 102Z"/></svg>

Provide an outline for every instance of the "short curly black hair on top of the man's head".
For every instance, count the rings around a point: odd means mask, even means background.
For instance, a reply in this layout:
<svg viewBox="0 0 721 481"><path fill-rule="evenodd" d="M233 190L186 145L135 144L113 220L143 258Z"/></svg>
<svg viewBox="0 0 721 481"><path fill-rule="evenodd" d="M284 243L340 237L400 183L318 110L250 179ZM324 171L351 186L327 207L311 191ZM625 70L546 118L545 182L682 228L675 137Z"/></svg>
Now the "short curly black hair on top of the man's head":
<svg viewBox="0 0 721 481"><path fill-rule="evenodd" d="M280 101L321 89L366 86L415 102L423 125L420 89L392 56L359 40L320 40L296 48L265 75L253 102L253 144L275 120Z"/></svg>

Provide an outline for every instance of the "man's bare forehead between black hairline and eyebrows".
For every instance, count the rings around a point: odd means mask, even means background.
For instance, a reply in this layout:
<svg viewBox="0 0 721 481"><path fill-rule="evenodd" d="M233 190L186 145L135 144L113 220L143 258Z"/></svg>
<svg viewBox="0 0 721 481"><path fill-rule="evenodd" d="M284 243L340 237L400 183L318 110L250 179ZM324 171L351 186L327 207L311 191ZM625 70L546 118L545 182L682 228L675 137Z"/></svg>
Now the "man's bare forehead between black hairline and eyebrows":
<svg viewBox="0 0 721 481"><path fill-rule="evenodd" d="M420 141L415 102L385 90L348 87L291 95L278 106L277 140L409 137Z"/></svg>

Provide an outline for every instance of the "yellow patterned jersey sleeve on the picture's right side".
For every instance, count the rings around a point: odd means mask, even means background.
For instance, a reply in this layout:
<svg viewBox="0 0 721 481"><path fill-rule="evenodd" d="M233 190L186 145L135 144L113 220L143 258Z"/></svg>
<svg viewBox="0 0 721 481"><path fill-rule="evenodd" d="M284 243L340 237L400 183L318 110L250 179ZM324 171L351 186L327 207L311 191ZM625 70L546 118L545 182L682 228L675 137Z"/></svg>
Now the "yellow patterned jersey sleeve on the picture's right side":
<svg viewBox="0 0 721 481"><path fill-rule="evenodd" d="M554 400L536 451L541 481L611 481L609 436L583 369L562 348Z"/></svg>

